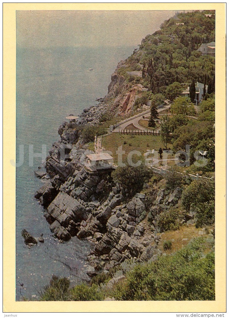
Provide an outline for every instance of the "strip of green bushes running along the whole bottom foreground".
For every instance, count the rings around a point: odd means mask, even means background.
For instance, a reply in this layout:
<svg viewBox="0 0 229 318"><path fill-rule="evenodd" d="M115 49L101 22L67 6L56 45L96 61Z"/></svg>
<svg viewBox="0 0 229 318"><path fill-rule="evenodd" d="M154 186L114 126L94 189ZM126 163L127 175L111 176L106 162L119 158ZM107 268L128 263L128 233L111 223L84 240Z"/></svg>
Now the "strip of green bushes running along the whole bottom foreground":
<svg viewBox="0 0 229 318"><path fill-rule="evenodd" d="M69 287L67 278L53 277L41 300L102 301L107 297L124 301L215 299L214 242L211 238L193 239L178 252L134 267L126 264L126 268L122 268L126 278L112 289L104 285L111 279L111 273L100 276L100 284L81 284L73 288Z"/></svg>

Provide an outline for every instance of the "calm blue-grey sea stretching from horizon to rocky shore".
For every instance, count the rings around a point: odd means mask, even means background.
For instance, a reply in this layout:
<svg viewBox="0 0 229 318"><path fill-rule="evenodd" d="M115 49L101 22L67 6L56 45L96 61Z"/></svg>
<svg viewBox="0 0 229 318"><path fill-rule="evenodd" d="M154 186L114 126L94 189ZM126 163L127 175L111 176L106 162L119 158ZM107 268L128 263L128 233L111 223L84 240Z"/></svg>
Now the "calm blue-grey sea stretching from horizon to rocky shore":
<svg viewBox="0 0 229 318"><path fill-rule="evenodd" d="M24 145L24 162L16 168L16 300L37 300L52 274L69 277L72 284L85 280L85 260L90 243L72 238L54 239L43 209L34 199L41 180L34 170L41 158L29 167L28 150L33 145L41 153L59 139L58 128L65 116L79 114L105 96L111 73L134 47L17 49L16 69L16 155ZM92 71L89 71L93 68ZM44 244L30 249L24 244L22 229L33 236L43 233Z"/></svg>

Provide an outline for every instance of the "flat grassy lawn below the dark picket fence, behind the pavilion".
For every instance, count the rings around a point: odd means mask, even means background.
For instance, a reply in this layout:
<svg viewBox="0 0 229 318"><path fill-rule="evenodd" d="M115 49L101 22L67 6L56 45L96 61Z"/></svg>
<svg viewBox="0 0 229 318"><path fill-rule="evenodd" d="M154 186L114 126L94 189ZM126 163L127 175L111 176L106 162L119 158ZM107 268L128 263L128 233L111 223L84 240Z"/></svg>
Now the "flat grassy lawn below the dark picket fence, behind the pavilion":
<svg viewBox="0 0 229 318"><path fill-rule="evenodd" d="M161 136L149 135L121 135L119 133L112 133L102 138L102 147L112 152L115 163L118 162L116 151L119 146L122 146L123 151L125 151L125 154L123 154L123 162L127 162L127 155L131 150L138 150L143 155L147 149L159 150L160 147L163 149L164 143ZM171 146L171 144L168 144L168 147ZM132 160L133 162L137 162L137 160L141 160L141 158L137 155L133 155Z"/></svg>

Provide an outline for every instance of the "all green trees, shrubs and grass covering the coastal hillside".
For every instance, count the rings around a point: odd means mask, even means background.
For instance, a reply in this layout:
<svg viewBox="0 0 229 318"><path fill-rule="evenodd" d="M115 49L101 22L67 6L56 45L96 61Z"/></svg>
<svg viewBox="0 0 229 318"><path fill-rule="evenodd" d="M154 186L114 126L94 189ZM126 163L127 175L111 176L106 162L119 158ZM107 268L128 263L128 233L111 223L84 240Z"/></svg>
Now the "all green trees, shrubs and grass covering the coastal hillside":
<svg viewBox="0 0 229 318"><path fill-rule="evenodd" d="M175 152L190 146L190 167L176 167L171 161L168 164L174 169L163 178L143 166L127 165L112 173L113 181L125 191L124 200L128 201L136 192L146 195L145 211L140 218L147 225L149 235L161 235L158 246L162 255L147 263L124 261L109 271L101 271L90 284L75 287L70 287L67 278L54 276L41 294L42 301L215 299L215 58L198 51L202 43L212 41L215 41L214 16L205 17L204 11L178 13L165 21L159 31L147 35L139 49L117 70L124 76L124 84L122 87L117 85L115 96L125 94L136 83L147 88L147 92L137 95L132 111L137 111L149 100L151 105L159 107L167 102L166 98L171 101L171 113L160 114L160 136L112 133L102 138L102 147L112 152L114 162L118 162L116 151L119 146L125 151L125 163L131 150L139 151L139 156L133 156L133 162L137 162L143 160L142 155L147 149L155 149L163 157L163 149L171 149L174 156ZM142 78L131 76L127 73L130 71L142 71ZM196 81L208 85L199 105L194 105L187 97L180 97L181 92ZM111 104L113 101L111 98ZM111 109L114 110L114 106L117 105L111 105ZM151 115L156 118L154 109ZM158 125L158 121L155 120L155 124ZM84 127L82 137L92 148L94 135L104 133L105 128L115 122L115 117L104 115L101 125ZM144 124L147 127L149 121ZM207 151L207 154L201 156L199 151ZM184 156L180 158L184 159ZM202 166L206 160L207 164ZM177 174L175 169L181 169L181 172L185 169L185 172ZM187 173L209 178L193 181ZM159 191L164 195L160 204L156 202ZM164 198L174 191L173 203L168 204ZM186 239L184 244L182 239ZM106 288L106 283L120 273L125 278L112 288Z"/></svg>

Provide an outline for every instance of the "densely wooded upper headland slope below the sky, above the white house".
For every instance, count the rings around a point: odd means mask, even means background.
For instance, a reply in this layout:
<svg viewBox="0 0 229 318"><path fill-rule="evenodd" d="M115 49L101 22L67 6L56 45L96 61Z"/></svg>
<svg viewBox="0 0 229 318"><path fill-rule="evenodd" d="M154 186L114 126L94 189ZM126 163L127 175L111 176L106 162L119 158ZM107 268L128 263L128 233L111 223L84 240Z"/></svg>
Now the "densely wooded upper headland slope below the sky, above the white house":
<svg viewBox="0 0 229 318"><path fill-rule="evenodd" d="M182 84L190 84L193 79L204 83L206 76L206 84L214 86L215 58L197 50L202 43L212 41L214 17L205 17L199 11L178 13L165 21L161 30L142 40L139 50L127 59L119 73L128 81L127 71L141 69L143 86L174 100L182 92ZM214 92L214 88L211 90Z"/></svg>

